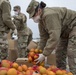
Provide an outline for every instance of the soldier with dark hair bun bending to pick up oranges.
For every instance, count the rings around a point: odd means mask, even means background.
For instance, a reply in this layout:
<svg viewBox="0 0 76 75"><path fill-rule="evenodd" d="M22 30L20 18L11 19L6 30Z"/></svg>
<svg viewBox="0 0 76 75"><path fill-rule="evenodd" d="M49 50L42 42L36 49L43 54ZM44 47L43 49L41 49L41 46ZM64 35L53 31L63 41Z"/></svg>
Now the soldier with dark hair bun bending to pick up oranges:
<svg viewBox="0 0 76 75"><path fill-rule="evenodd" d="M42 62L56 48L57 67L66 69L66 56L70 71L76 75L76 11L65 7L46 7L44 2L32 0L27 13L39 23L40 43L43 54L35 61Z"/></svg>

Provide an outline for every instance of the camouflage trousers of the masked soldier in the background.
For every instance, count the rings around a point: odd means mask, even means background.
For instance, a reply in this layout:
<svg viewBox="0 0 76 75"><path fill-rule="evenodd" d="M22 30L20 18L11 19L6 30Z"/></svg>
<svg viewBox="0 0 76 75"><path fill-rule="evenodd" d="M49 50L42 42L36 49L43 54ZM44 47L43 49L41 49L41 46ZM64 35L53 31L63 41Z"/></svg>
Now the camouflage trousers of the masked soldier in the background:
<svg viewBox="0 0 76 75"><path fill-rule="evenodd" d="M27 35L20 35L18 39L18 57L27 57Z"/></svg>

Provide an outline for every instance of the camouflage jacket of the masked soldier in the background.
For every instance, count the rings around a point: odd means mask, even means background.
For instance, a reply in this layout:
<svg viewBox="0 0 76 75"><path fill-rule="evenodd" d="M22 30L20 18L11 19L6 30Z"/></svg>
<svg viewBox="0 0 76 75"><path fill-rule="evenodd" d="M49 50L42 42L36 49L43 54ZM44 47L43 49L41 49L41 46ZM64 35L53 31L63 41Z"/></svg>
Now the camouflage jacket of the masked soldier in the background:
<svg viewBox="0 0 76 75"><path fill-rule="evenodd" d="M26 15L23 13L19 13L18 16L13 16L13 22L17 27L18 31L22 31L26 26Z"/></svg>

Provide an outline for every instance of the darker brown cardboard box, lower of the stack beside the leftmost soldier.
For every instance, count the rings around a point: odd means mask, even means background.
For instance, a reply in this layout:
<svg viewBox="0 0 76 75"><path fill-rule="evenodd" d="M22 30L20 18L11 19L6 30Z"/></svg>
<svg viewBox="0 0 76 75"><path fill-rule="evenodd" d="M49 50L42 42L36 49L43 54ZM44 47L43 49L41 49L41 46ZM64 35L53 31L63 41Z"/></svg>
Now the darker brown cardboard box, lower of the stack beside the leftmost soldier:
<svg viewBox="0 0 76 75"><path fill-rule="evenodd" d="M8 50L8 60L16 61L18 58L18 50Z"/></svg>

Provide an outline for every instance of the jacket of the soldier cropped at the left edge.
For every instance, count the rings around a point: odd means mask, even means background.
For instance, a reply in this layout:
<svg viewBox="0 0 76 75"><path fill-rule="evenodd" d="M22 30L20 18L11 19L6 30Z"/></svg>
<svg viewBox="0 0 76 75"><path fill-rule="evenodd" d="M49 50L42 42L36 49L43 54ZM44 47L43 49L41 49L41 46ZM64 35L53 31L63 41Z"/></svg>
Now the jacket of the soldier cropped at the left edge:
<svg viewBox="0 0 76 75"><path fill-rule="evenodd" d="M10 12L10 2L8 0L0 0L0 31L9 32L10 29L15 29Z"/></svg>

